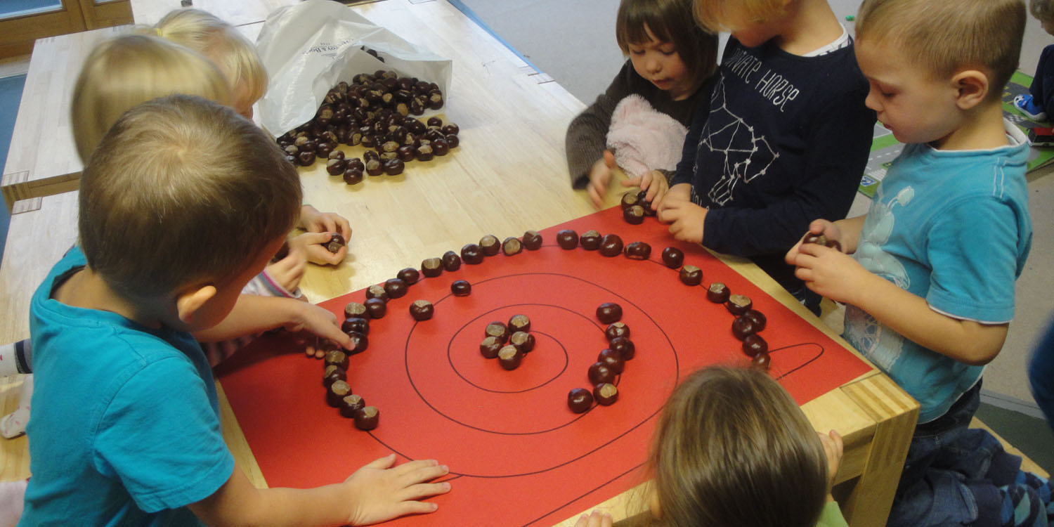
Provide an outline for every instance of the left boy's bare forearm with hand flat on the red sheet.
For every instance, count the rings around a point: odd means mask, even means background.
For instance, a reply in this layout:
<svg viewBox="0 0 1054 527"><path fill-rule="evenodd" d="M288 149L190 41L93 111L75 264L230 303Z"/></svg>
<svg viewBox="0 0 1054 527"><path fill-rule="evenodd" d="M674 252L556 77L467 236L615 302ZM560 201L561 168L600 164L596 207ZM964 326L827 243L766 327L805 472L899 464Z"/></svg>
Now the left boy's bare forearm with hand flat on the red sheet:
<svg viewBox="0 0 1054 527"><path fill-rule="evenodd" d="M190 509L207 525L369 525L406 514L433 512L422 497L443 494L449 483L425 483L448 473L434 460L392 468L395 454L366 465L343 483L311 489L257 489L241 468L211 496Z"/></svg>

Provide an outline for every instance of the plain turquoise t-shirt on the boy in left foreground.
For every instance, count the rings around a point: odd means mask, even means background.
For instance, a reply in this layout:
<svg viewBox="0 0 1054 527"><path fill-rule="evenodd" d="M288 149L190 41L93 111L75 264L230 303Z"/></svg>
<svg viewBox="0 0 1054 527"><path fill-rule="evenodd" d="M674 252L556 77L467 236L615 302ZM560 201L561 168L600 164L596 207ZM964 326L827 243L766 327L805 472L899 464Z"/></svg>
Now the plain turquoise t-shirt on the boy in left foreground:
<svg viewBox="0 0 1054 527"><path fill-rule="evenodd" d="M33 418L19 525L201 525L187 505L234 470L212 372L190 333L66 306L67 253L30 307Z"/></svg>

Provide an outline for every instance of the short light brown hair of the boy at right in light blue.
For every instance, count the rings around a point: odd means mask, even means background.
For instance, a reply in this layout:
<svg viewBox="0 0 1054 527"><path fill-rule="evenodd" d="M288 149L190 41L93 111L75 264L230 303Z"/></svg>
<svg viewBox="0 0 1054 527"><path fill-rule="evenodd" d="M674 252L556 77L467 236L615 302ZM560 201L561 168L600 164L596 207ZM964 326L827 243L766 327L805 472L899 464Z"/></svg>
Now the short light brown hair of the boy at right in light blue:
<svg viewBox="0 0 1054 527"><path fill-rule="evenodd" d="M934 79L979 70L992 101L1017 70L1026 18L1022 0L864 0L856 38L889 44Z"/></svg>

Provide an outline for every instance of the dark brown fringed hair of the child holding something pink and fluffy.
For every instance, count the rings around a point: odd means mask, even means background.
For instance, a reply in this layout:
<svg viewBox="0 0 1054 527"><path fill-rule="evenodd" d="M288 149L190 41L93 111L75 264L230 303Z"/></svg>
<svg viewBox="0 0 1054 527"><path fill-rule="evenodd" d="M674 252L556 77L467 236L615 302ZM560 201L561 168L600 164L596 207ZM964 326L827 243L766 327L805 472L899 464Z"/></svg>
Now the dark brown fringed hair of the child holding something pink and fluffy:
<svg viewBox="0 0 1054 527"><path fill-rule="evenodd" d="M696 25L691 0L622 0L614 21L622 53L629 54L629 44L648 42L648 31L659 41L674 43L692 85L717 71L718 37Z"/></svg>

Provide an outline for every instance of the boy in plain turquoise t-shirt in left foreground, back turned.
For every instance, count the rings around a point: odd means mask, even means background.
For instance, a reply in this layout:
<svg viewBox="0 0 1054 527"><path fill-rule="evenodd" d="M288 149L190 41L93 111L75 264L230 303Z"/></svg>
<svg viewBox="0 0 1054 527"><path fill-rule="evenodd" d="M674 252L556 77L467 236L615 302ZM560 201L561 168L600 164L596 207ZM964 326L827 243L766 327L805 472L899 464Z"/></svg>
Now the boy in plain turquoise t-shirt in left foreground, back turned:
<svg viewBox="0 0 1054 527"><path fill-rule="evenodd" d="M390 455L344 483L256 489L223 444L188 332L228 316L300 197L280 149L229 108L170 96L111 129L81 177L80 247L32 301L47 411L28 426L22 525L362 525L435 510L413 501L448 490L423 483L447 472L434 461L389 469Z"/></svg>

